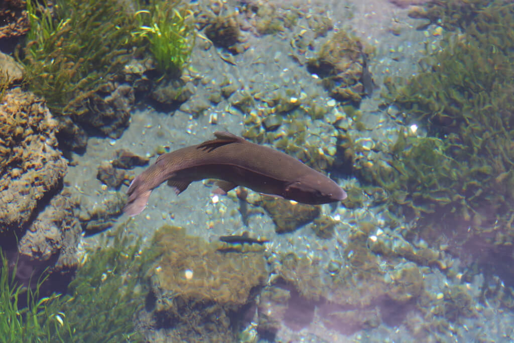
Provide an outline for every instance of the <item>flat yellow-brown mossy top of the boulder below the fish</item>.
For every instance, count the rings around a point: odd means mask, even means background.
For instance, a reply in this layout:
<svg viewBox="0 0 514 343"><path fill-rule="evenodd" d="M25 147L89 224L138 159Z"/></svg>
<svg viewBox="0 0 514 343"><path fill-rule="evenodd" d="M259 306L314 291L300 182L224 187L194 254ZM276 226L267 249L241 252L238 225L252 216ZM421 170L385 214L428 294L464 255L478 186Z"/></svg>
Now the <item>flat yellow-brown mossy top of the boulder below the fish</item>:
<svg viewBox="0 0 514 343"><path fill-rule="evenodd" d="M267 279L262 252L217 251L217 244L172 226L160 228L154 242L162 256L152 273L152 288L161 299L216 302L237 309L250 300L252 288ZM171 310L171 303L166 303L160 310Z"/></svg>

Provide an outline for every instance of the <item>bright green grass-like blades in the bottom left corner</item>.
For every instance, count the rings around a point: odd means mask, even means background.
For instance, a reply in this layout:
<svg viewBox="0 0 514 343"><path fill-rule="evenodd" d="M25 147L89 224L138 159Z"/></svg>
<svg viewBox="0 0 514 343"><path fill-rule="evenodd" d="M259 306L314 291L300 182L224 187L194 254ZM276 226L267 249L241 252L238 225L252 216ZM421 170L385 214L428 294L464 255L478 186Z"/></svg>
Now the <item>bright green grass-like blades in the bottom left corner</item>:
<svg viewBox="0 0 514 343"><path fill-rule="evenodd" d="M65 342L65 335L73 338L66 315L60 310L65 302L63 297L40 297L48 274L39 278L34 289L25 287L16 283L16 266L9 271L7 257L1 250L0 260L0 342ZM24 306L22 297L26 297Z"/></svg>

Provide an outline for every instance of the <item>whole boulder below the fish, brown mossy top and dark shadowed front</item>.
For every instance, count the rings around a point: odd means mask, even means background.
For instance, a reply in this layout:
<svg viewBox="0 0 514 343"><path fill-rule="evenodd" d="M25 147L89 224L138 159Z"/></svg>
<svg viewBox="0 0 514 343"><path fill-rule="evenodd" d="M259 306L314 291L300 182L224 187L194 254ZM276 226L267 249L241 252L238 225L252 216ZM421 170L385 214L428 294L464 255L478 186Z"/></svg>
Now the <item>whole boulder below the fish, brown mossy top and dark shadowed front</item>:
<svg viewBox="0 0 514 343"><path fill-rule="evenodd" d="M172 341L236 341L243 320L268 272L262 251L217 250L186 229L163 226L152 246L160 254L151 270L154 315Z"/></svg>

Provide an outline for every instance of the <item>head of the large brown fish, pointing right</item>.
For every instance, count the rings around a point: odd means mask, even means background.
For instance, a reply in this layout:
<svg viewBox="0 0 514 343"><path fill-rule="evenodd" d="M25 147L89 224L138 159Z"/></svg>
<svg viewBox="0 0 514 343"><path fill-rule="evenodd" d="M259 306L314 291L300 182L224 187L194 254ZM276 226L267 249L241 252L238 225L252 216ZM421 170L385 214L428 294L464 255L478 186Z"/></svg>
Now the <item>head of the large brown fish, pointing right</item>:
<svg viewBox="0 0 514 343"><path fill-rule="evenodd" d="M303 204L318 205L344 200L346 192L332 179L316 172L289 183L285 187L284 197Z"/></svg>

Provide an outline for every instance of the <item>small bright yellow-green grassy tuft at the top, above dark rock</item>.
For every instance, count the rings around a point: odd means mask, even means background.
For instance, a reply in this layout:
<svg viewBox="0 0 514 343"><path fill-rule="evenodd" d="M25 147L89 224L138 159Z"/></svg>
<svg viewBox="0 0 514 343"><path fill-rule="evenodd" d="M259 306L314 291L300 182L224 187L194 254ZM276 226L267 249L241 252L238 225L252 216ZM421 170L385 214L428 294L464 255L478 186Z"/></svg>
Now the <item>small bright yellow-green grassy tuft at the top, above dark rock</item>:
<svg viewBox="0 0 514 343"><path fill-rule="evenodd" d="M148 41L157 69L169 76L179 75L189 63L196 37L193 12L179 3L152 1L149 9L136 12L140 26L132 32Z"/></svg>

